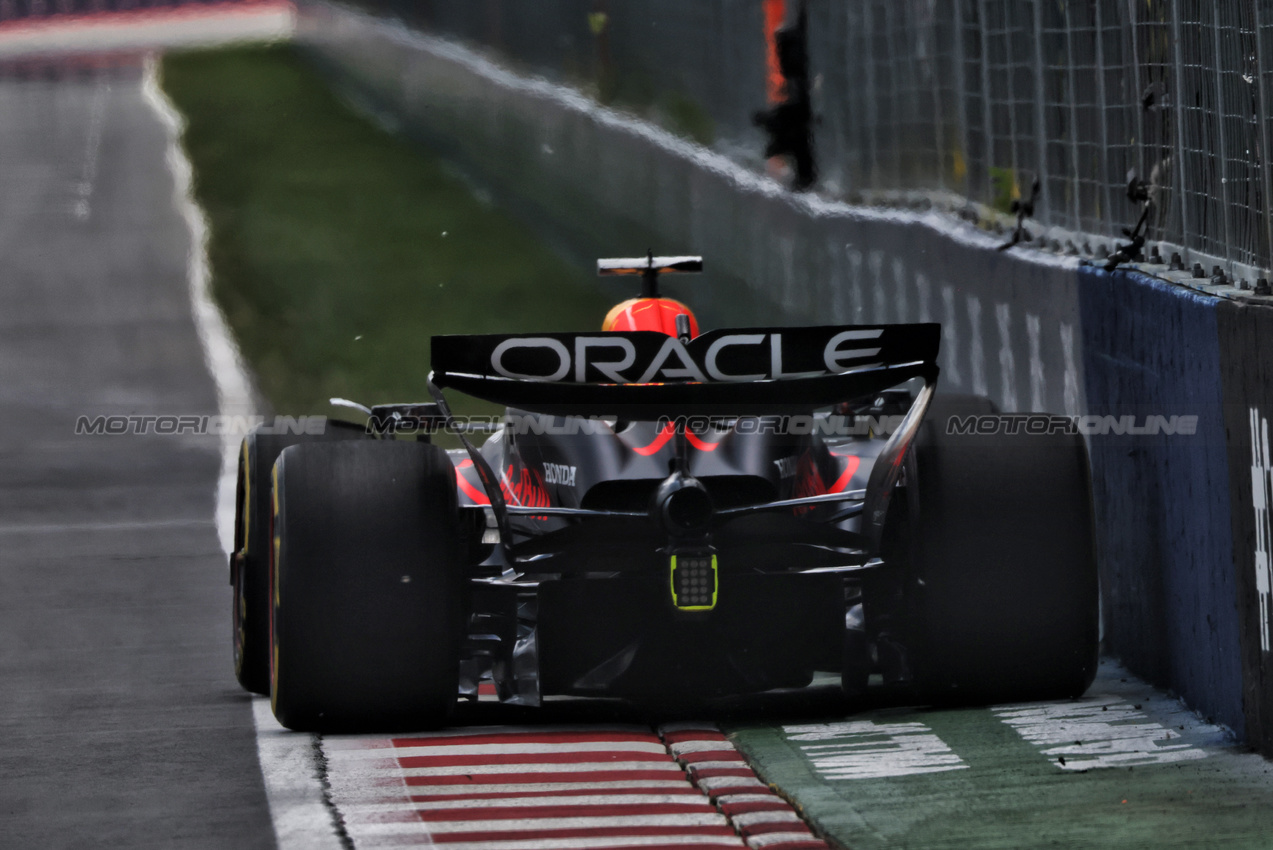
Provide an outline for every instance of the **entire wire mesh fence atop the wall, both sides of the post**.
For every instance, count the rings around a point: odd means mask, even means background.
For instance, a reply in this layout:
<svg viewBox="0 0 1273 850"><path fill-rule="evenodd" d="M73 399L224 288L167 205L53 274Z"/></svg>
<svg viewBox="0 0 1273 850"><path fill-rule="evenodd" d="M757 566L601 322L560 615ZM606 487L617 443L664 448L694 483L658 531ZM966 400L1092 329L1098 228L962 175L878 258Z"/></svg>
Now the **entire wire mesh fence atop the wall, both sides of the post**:
<svg viewBox="0 0 1273 850"><path fill-rule="evenodd" d="M205 0L0 0L0 22ZM801 0L349 0L763 159L775 20ZM1273 0L805 0L819 188L928 192L1080 247L1136 224L1273 267Z"/></svg>

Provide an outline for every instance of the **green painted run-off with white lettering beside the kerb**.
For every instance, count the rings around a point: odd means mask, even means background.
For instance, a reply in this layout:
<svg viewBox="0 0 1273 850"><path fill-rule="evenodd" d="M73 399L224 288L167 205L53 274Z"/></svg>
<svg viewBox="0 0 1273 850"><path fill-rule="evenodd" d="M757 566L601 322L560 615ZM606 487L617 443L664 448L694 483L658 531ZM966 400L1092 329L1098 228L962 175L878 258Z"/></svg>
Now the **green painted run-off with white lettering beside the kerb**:
<svg viewBox="0 0 1273 850"><path fill-rule="evenodd" d="M1120 674L1108 665L1058 707L894 707L727 732L852 850L1273 847L1273 765Z"/></svg>

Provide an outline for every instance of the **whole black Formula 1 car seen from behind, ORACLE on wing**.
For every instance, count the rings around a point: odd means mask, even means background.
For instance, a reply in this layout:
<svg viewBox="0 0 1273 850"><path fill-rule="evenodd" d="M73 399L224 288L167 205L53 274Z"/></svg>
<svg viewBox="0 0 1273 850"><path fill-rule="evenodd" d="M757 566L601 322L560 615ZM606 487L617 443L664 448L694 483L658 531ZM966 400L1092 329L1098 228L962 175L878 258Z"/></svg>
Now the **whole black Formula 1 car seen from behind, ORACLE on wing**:
<svg viewBox="0 0 1273 850"><path fill-rule="evenodd" d="M937 396L937 324L699 332L643 281L601 333L438 336L433 401L239 464L236 669L293 729L499 699L666 704L871 677L1071 697L1097 657L1087 454ZM507 406L479 448L443 389ZM458 434L461 449L433 444ZM414 435L415 439L404 439Z"/></svg>

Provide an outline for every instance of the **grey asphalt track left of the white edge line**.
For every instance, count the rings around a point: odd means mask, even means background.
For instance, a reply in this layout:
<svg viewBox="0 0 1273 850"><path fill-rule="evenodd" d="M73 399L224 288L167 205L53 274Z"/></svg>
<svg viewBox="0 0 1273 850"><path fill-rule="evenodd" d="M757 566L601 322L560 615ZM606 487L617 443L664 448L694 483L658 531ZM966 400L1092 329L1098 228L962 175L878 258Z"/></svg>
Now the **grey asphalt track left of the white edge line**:
<svg viewBox="0 0 1273 850"><path fill-rule="evenodd" d="M0 846L265 847L216 414L141 70L0 80Z"/></svg>

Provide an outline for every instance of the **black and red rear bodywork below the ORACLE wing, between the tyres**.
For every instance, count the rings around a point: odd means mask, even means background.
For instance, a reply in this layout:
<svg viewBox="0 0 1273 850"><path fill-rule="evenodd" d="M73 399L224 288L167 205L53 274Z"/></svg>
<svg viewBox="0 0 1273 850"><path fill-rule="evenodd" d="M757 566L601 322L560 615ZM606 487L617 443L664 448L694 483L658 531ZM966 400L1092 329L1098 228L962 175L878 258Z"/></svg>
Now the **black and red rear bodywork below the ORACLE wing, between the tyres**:
<svg viewBox="0 0 1273 850"><path fill-rule="evenodd" d="M512 411L509 419L526 416ZM493 547L481 568L489 578L475 579L474 624L476 634L502 632L500 641L474 641L471 650L488 654L504 699L535 702L536 688L527 687L535 678L542 693L657 697L690 685L699 695L796 687L815 669L840 671L847 608L861 596L849 573L869 560L857 517L838 520L843 505L835 504L793 506L671 538L649 517L676 463L667 434L651 421L600 422L582 434L518 433L510 424L482 447L509 505L620 514L517 515L509 546ZM861 490L885 443L741 434L737 422L694 436L686 472L722 512ZM456 461L461 504L486 508L474 464L458 452ZM675 606L668 559L679 548L717 555L719 597L710 611ZM833 571L808 573L817 569ZM527 657L532 644L537 671ZM474 662L474 672L482 671Z"/></svg>

